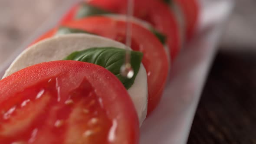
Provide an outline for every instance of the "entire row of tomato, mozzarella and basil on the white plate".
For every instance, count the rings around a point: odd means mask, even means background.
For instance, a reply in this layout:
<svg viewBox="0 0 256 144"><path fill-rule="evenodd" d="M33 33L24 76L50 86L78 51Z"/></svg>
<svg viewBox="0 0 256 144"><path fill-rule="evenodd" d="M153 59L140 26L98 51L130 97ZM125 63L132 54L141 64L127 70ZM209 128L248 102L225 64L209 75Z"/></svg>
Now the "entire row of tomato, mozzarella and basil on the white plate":
<svg viewBox="0 0 256 144"><path fill-rule="evenodd" d="M0 80L0 144L138 144L171 63L193 36L196 0L85 0L36 38Z"/></svg>

